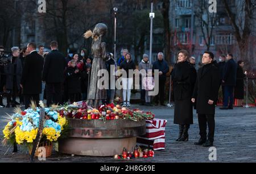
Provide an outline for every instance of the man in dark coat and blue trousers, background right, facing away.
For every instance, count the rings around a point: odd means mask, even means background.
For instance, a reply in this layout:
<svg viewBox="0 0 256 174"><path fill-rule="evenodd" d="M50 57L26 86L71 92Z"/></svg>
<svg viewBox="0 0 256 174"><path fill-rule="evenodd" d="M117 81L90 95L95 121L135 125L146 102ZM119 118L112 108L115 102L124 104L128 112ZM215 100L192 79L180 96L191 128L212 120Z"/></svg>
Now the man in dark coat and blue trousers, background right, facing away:
<svg viewBox="0 0 256 174"><path fill-rule="evenodd" d="M229 53L226 56L228 60L224 67L222 85L224 86L224 102L220 109L233 109L234 86L236 86L237 63L233 59L233 55Z"/></svg>

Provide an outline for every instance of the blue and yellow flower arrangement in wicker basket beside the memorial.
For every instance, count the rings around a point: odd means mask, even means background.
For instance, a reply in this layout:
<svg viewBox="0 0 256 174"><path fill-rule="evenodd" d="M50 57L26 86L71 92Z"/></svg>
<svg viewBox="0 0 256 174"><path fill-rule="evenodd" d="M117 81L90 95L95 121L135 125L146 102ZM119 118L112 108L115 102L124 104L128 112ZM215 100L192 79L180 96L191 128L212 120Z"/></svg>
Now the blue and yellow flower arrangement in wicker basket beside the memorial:
<svg viewBox="0 0 256 174"><path fill-rule="evenodd" d="M17 143L26 145L31 152L32 143L36 138L39 127L39 107L31 107L24 111L15 109L15 114L9 115L9 122L3 130L3 143ZM63 115L51 108L45 108L45 118L42 131L42 138L39 146L46 147L51 152L52 143L56 142L64 132L67 131L68 122ZM47 153L48 156L51 153Z"/></svg>

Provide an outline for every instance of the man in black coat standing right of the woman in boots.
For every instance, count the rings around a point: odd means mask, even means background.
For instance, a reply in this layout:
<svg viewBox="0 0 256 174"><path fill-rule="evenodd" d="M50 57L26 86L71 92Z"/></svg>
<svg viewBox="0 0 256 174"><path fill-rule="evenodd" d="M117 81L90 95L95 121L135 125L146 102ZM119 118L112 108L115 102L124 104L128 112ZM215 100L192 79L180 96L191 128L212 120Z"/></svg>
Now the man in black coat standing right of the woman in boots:
<svg viewBox="0 0 256 174"><path fill-rule="evenodd" d="M214 129L215 129L215 105L218 96L218 86L220 83L220 76L218 68L212 63L214 55L212 52L205 51L202 63L203 67L199 68L197 72L196 85L193 91L192 102L196 102L196 112L198 114L198 122L200 129L200 140L196 145L204 147L213 146ZM208 125L208 139L207 139L207 125Z"/></svg>

